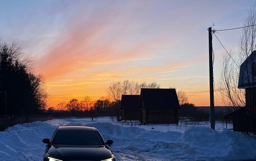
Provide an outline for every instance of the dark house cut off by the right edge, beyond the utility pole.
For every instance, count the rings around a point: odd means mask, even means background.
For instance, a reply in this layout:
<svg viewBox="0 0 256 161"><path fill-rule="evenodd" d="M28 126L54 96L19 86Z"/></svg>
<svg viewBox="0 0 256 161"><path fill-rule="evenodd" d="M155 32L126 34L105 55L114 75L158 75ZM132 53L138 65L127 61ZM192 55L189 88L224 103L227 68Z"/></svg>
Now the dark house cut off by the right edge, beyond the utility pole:
<svg viewBox="0 0 256 161"><path fill-rule="evenodd" d="M224 118L233 119L234 131L256 132L256 51L240 66L238 88L245 89L245 108Z"/></svg>

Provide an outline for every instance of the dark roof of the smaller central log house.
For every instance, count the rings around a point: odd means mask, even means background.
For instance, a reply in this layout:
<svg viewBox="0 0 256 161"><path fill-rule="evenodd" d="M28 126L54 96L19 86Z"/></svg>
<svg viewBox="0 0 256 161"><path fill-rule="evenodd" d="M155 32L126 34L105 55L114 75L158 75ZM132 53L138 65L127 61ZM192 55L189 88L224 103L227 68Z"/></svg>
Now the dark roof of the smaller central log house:
<svg viewBox="0 0 256 161"><path fill-rule="evenodd" d="M121 110L136 111L139 110L140 95L122 95Z"/></svg>

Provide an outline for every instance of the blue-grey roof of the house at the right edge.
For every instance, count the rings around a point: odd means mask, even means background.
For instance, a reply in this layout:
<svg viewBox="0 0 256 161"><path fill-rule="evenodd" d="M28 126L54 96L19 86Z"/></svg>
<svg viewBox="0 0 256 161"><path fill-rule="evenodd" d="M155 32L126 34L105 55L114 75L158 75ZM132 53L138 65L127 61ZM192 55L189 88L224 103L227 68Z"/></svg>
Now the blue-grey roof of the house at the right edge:
<svg viewBox="0 0 256 161"><path fill-rule="evenodd" d="M256 87L256 51L252 54L240 66L238 88L255 88Z"/></svg>

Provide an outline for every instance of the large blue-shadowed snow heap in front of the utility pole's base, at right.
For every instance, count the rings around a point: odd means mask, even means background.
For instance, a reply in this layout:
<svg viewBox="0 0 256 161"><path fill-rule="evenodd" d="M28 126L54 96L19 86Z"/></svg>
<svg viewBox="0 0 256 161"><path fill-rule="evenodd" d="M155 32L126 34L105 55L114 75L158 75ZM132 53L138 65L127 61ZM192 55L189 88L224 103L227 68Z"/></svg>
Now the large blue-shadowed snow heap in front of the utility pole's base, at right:
<svg viewBox="0 0 256 161"><path fill-rule="evenodd" d="M203 158L256 159L256 140L228 130L218 132L207 127L191 127L182 135L182 142L189 154Z"/></svg>

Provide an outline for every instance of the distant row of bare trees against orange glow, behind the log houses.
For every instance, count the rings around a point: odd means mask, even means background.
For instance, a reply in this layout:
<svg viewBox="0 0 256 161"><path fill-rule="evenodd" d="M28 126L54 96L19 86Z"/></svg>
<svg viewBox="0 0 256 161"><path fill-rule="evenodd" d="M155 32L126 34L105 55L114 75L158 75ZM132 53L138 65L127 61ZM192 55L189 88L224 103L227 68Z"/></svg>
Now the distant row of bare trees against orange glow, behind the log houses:
<svg viewBox="0 0 256 161"><path fill-rule="evenodd" d="M84 99L71 99L69 102L59 103L55 108L49 108L49 111L56 109L64 112L79 112L79 111L95 111L95 112L115 112L120 115L120 104L122 95L140 95L141 88L159 89L161 85L157 82L135 82L130 80L115 81L108 87L108 95L98 100L92 100L89 96ZM177 91L177 96L181 107L194 107L194 104L188 103L188 96L184 91Z"/></svg>

